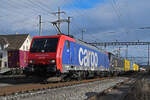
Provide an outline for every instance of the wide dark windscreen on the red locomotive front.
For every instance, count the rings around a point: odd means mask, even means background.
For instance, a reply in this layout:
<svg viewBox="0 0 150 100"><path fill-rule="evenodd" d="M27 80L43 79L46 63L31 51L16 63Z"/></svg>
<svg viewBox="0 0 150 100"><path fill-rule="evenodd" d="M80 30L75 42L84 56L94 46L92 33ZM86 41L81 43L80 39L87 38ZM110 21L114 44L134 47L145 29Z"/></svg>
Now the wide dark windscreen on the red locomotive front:
<svg viewBox="0 0 150 100"><path fill-rule="evenodd" d="M31 45L30 52L56 52L58 38L39 38L34 39Z"/></svg>

